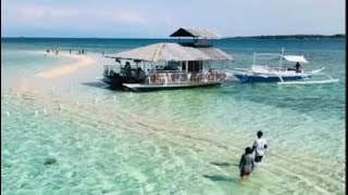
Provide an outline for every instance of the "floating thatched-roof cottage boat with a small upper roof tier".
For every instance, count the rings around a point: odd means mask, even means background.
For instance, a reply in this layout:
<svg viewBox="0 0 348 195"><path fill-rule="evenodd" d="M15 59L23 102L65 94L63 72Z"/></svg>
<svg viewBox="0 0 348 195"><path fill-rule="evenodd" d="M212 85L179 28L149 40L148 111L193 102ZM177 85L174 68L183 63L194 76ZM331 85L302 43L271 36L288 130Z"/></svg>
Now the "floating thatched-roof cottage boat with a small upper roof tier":
<svg viewBox="0 0 348 195"><path fill-rule="evenodd" d="M117 64L104 65L102 80L113 88L153 91L220 86L227 79L224 69L211 67L214 62L234 61L208 42L207 38L216 37L214 32L179 28L171 37L192 37L194 40L160 42L108 55Z"/></svg>

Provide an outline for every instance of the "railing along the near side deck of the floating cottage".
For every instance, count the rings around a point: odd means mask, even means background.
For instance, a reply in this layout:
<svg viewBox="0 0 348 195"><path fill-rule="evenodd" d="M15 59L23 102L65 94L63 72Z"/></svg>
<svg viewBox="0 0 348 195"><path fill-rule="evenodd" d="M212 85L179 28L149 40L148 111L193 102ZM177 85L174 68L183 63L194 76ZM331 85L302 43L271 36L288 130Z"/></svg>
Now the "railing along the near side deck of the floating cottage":
<svg viewBox="0 0 348 195"><path fill-rule="evenodd" d="M179 70L149 72L148 83L185 83L222 81L226 74L222 72L186 73Z"/></svg>

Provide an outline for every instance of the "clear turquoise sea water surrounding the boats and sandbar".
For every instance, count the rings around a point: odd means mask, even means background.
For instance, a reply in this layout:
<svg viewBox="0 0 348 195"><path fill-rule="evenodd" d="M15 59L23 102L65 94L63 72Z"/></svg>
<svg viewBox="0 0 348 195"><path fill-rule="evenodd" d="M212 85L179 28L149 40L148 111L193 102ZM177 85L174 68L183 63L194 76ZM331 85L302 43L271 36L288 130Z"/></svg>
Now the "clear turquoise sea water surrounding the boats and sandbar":
<svg viewBox="0 0 348 195"><path fill-rule="evenodd" d="M97 79L108 63L102 51L159 41L1 39L1 193L345 193L344 39L214 42L236 60L226 68L248 67L253 52L284 47L304 54L306 69L325 66L338 83L132 93ZM39 79L39 72L74 63L46 56L51 47L85 49L97 63ZM241 182L237 165L258 130L269 150Z"/></svg>

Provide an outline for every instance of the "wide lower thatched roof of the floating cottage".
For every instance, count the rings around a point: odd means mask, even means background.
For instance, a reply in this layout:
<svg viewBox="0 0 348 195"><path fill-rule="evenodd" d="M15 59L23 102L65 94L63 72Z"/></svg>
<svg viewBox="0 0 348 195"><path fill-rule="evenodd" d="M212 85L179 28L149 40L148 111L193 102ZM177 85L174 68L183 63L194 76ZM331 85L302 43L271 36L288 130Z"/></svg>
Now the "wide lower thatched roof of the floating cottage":
<svg viewBox="0 0 348 195"><path fill-rule="evenodd" d="M183 47L178 43L172 42L149 44L146 47L120 52L108 57L147 62L233 60L232 56L219 49L207 48L206 50L203 50Z"/></svg>

